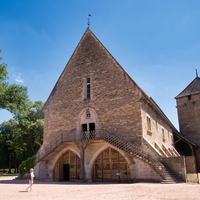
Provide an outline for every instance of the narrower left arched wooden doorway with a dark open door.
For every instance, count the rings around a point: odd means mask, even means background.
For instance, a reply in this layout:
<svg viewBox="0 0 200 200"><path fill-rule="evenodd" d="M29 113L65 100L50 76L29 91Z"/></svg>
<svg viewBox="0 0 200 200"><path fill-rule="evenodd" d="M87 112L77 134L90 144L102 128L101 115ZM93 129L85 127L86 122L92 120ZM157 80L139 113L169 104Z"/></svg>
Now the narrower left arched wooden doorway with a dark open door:
<svg viewBox="0 0 200 200"><path fill-rule="evenodd" d="M65 152L57 161L54 169L55 181L75 181L79 179L80 158L72 151Z"/></svg>

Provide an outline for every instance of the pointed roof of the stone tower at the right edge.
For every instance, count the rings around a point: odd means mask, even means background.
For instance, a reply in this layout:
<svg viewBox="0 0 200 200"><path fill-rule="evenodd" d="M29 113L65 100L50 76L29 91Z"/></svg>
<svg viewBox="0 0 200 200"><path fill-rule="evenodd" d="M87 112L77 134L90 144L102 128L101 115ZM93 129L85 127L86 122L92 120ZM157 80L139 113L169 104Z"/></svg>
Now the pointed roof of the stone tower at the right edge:
<svg viewBox="0 0 200 200"><path fill-rule="evenodd" d="M175 99L200 93L200 77L196 77Z"/></svg>

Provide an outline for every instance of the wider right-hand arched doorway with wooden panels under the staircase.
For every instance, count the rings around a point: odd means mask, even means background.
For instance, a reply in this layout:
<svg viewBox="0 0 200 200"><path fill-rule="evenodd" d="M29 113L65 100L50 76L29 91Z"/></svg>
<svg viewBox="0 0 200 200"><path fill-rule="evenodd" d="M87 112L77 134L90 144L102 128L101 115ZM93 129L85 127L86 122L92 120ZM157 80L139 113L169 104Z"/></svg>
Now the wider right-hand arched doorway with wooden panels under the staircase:
<svg viewBox="0 0 200 200"><path fill-rule="evenodd" d="M128 163L118 151L107 148L94 162L92 180L96 182L130 182Z"/></svg>

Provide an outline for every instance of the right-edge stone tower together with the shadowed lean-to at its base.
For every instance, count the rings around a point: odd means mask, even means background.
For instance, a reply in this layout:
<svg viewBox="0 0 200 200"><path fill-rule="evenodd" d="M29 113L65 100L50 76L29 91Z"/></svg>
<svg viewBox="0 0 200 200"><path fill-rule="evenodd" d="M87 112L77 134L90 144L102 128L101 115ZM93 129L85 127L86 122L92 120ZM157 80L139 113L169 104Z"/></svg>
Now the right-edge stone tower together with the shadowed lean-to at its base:
<svg viewBox="0 0 200 200"><path fill-rule="evenodd" d="M175 97L180 135L175 136L175 147L186 156L187 172L200 172L200 78L196 78ZM182 139L180 139L180 137ZM185 143L184 141L190 141Z"/></svg>

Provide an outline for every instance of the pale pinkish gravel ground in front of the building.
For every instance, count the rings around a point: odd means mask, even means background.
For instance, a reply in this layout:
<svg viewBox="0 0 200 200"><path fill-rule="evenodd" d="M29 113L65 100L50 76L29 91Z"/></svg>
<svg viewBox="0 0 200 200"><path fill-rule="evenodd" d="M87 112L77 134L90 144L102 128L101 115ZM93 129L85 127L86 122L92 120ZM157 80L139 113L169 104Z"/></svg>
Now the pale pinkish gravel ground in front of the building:
<svg viewBox="0 0 200 200"><path fill-rule="evenodd" d="M200 200L200 184L159 183L73 183L34 181L26 192L27 180L0 177L1 200Z"/></svg>

